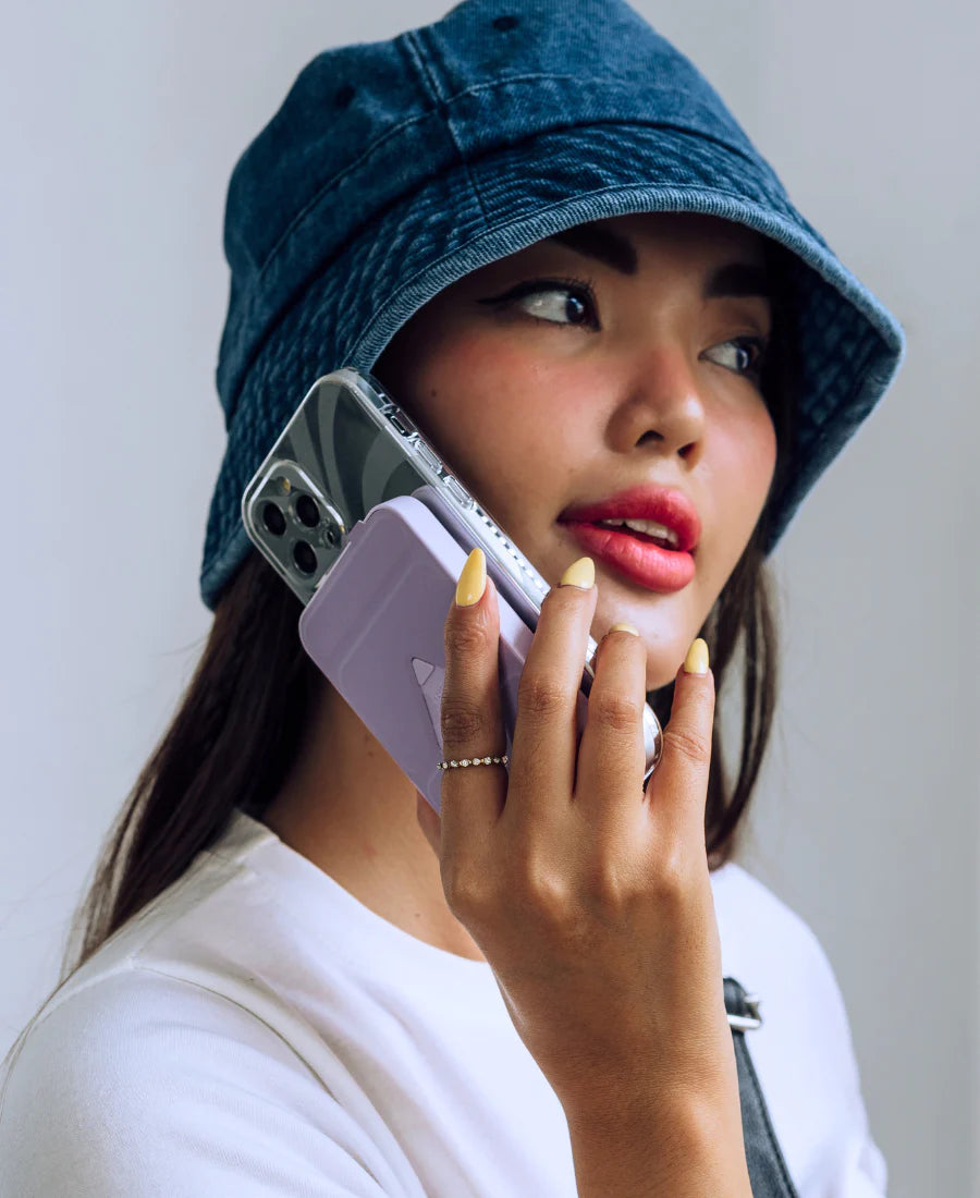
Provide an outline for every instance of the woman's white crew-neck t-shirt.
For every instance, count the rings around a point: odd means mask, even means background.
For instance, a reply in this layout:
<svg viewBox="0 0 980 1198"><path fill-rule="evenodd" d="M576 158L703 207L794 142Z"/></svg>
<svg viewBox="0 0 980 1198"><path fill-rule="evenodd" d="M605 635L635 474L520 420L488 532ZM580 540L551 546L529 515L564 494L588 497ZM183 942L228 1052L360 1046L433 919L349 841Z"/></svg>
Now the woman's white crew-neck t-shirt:
<svg viewBox="0 0 980 1198"><path fill-rule="evenodd" d="M800 1198L885 1192L809 927L712 875L722 968ZM571 1198L568 1127L490 967L403 932L236 812L30 1027L2 1198Z"/></svg>

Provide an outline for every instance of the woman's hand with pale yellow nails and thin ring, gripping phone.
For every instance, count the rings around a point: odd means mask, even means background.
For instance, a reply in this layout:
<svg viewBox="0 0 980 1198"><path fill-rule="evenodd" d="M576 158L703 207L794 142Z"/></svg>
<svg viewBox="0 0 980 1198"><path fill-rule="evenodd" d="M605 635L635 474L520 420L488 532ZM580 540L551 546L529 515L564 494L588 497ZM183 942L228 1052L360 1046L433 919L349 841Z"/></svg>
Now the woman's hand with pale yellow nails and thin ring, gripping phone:
<svg viewBox="0 0 980 1198"><path fill-rule="evenodd" d="M576 570L580 585L569 582ZM419 822L449 909L494 970L569 1121L676 1100L716 1132L734 1119L740 1150L704 847L714 679L706 654L702 674L678 671L663 757L643 791L646 649L633 633L610 630L576 745L593 580L582 558L544 600L509 774L503 766L447 769L441 818L418 795ZM447 760L506 751L498 631L496 588L474 550L446 621Z"/></svg>

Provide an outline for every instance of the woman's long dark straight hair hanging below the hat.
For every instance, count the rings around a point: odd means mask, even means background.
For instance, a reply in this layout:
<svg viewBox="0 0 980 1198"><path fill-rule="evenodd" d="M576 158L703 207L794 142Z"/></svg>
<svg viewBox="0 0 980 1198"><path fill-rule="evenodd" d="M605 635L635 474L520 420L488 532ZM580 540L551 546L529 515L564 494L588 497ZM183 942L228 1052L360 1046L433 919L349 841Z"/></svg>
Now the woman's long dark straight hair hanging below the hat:
<svg viewBox="0 0 980 1198"><path fill-rule="evenodd" d="M734 780L715 715L704 813L712 870L730 860L768 744L778 691L773 586L764 558L768 512L793 437L798 375L793 313L769 243L776 295L762 392L776 429L776 472L762 518L700 635L710 648L721 700L742 651L742 744ZM255 818L272 803L297 755L313 706L328 685L303 651L300 600L253 551L222 595L204 652L174 719L107 834L93 879L68 930L56 988L220 837L236 809ZM647 701L666 725L673 683ZM720 712L719 701L718 710ZM49 996L50 997L50 996ZM47 1000L46 1000L47 1002Z"/></svg>

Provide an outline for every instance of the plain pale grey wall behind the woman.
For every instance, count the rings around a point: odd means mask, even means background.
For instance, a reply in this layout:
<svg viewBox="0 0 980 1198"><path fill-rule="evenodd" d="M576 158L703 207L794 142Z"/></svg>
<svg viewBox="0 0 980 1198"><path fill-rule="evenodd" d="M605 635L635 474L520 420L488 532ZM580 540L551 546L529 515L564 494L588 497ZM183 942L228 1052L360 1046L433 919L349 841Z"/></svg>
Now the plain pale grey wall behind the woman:
<svg viewBox="0 0 980 1198"><path fill-rule="evenodd" d="M774 558L785 680L744 864L835 966L890 1193L980 1194L980 10L636 6L909 335L899 382ZM231 168L317 50L446 7L5 12L0 1052L54 984L101 839L208 627Z"/></svg>

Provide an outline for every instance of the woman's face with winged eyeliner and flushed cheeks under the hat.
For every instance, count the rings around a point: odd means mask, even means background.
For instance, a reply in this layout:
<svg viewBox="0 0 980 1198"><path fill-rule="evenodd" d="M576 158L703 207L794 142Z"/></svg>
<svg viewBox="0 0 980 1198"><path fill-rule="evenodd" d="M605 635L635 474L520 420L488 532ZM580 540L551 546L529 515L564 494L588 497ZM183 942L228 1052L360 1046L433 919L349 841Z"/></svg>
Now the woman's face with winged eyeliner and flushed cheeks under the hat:
<svg viewBox="0 0 980 1198"><path fill-rule="evenodd" d="M593 557L592 635L617 621L640 629L648 690L673 679L773 478L775 430L758 383L772 328L763 244L692 213L581 225L441 292L375 367L550 585ZM755 270L709 286L734 264ZM649 485L679 491L700 521L692 561L666 555L680 565L673 582L655 565L645 575L642 536L598 534L640 563L630 569L565 520Z"/></svg>

